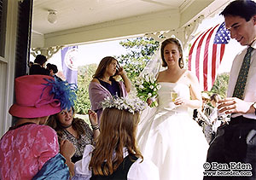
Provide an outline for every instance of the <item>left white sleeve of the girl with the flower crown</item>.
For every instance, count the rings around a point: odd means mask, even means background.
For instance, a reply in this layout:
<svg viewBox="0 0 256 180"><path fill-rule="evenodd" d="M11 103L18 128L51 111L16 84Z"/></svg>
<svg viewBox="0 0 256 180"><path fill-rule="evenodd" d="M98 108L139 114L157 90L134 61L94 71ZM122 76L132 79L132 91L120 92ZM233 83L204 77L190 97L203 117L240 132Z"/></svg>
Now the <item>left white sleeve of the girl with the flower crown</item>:
<svg viewBox="0 0 256 180"><path fill-rule="evenodd" d="M89 170L91 152L93 151L94 147L92 145L86 145L84 148L83 159L79 160L74 165L75 176L73 180L89 180L91 177L91 171Z"/></svg>

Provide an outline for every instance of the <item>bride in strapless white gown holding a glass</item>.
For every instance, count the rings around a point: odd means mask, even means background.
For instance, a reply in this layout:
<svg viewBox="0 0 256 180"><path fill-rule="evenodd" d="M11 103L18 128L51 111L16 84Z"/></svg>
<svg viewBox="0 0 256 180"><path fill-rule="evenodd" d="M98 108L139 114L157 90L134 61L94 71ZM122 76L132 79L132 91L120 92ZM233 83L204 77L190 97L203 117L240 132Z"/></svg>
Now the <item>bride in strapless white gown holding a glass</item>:
<svg viewBox="0 0 256 180"><path fill-rule="evenodd" d="M166 39L160 54L167 69L157 78L159 106L151 110L152 115L142 114L137 142L143 156L158 166L161 180L201 180L208 145L189 116L189 108L201 107L198 80L183 69L183 49L177 38Z"/></svg>

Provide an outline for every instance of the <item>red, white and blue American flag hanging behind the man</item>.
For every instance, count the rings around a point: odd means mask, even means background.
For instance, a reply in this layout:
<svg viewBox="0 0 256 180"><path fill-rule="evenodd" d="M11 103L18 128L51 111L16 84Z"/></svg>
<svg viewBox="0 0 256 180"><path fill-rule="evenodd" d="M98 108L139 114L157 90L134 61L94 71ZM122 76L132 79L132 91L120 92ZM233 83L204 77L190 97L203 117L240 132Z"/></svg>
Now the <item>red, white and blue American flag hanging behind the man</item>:
<svg viewBox="0 0 256 180"><path fill-rule="evenodd" d="M211 90L230 32L224 22L202 32L189 50L189 70L196 74L201 90Z"/></svg>

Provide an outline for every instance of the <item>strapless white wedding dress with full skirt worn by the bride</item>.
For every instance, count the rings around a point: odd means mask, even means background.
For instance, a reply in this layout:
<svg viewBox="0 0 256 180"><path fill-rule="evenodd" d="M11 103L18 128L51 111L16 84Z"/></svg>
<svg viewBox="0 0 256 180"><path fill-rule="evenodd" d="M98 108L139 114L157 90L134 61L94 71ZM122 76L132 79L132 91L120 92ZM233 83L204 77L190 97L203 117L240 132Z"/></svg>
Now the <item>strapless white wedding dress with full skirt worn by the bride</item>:
<svg viewBox="0 0 256 180"><path fill-rule="evenodd" d="M189 108L176 106L171 92L189 99L185 84L160 82L158 107L143 112L137 142L145 158L159 168L160 180L201 180L208 144Z"/></svg>

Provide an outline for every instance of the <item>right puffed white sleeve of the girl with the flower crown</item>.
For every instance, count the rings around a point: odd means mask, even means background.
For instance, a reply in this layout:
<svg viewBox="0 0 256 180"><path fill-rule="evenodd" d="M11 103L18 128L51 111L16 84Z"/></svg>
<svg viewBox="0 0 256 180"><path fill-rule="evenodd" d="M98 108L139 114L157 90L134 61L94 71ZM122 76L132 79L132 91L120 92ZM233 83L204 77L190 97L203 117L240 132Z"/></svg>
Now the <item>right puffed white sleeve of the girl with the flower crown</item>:
<svg viewBox="0 0 256 180"><path fill-rule="evenodd" d="M159 180L159 171L150 160L136 160L128 171L128 180Z"/></svg>

